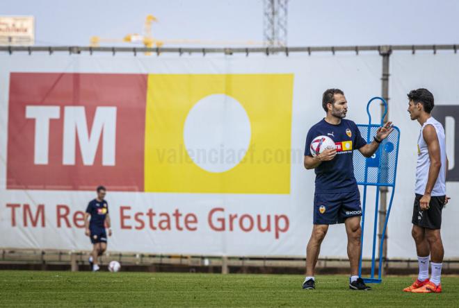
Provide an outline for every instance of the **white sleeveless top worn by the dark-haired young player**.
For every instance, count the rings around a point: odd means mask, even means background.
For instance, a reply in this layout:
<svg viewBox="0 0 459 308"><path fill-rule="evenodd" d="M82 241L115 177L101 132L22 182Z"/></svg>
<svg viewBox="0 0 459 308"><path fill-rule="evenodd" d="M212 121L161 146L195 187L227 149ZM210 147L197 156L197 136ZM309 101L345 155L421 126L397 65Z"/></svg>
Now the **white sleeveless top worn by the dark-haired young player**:
<svg viewBox="0 0 459 308"><path fill-rule="evenodd" d="M426 123L424 123L424 125L421 127L421 131L419 132L419 137L417 139L416 187L414 188L414 192L416 194L424 195L424 192L426 191L428 169L430 167L427 144L424 141L424 136L422 135L422 130L424 130L426 125L433 126L437 132L438 142L440 143L440 159L442 162L440 173L438 173L437 182L435 182L430 196L445 196L446 140L444 137L444 129L442 123L435 120L433 117L428 118Z"/></svg>

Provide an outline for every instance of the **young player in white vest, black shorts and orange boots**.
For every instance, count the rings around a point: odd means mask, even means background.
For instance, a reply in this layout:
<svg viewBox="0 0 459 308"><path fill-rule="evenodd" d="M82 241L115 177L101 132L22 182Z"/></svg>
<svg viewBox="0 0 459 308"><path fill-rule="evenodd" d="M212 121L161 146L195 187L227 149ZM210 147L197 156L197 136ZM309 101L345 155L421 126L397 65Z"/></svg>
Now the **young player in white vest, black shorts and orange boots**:
<svg viewBox="0 0 459 308"><path fill-rule="evenodd" d="M412 216L412 237L416 243L419 275L403 289L413 293L441 293L440 276L443 262L443 243L440 235L442 208L446 198L446 142L442 124L435 120L433 94L428 89L415 89L408 94L408 112L412 120L421 124L417 139L416 186ZM431 276L428 277L430 259Z"/></svg>

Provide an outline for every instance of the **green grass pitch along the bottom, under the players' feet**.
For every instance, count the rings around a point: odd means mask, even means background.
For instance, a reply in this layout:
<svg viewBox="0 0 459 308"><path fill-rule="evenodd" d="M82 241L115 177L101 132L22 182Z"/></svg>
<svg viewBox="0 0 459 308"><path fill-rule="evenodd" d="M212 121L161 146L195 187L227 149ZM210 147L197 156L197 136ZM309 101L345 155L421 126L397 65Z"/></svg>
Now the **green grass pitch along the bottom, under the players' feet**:
<svg viewBox="0 0 459 308"><path fill-rule="evenodd" d="M1 307L393 307L459 306L459 277L441 294L403 293L411 277L386 277L372 291L351 291L348 277L300 275L0 271Z"/></svg>

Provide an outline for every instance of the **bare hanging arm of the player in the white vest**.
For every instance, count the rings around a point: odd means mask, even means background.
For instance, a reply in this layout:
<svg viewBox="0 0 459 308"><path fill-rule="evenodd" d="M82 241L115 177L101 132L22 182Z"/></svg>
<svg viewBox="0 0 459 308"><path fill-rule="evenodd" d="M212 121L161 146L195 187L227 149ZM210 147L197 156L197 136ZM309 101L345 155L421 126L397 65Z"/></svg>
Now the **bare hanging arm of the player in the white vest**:
<svg viewBox="0 0 459 308"><path fill-rule="evenodd" d="M442 160L440 157L440 143L438 142L435 128L431 125L427 125L422 130L422 135L424 136L424 141L427 144L430 166L428 169L426 191L424 191L424 196L422 196L421 200L419 200L419 207L421 207L422 210L426 210L429 208L430 194L432 193L435 182L437 182L438 174L440 173L440 168L442 167Z"/></svg>

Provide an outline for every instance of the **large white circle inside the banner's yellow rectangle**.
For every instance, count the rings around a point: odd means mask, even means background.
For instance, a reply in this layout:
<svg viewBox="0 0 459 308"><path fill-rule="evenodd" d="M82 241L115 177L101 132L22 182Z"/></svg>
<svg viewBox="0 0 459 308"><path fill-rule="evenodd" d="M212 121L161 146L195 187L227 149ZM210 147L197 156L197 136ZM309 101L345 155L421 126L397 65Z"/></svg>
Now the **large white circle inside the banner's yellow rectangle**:
<svg viewBox="0 0 459 308"><path fill-rule="evenodd" d="M220 173L234 168L247 153L250 135L247 112L225 94L204 97L186 116L186 151L205 171Z"/></svg>

